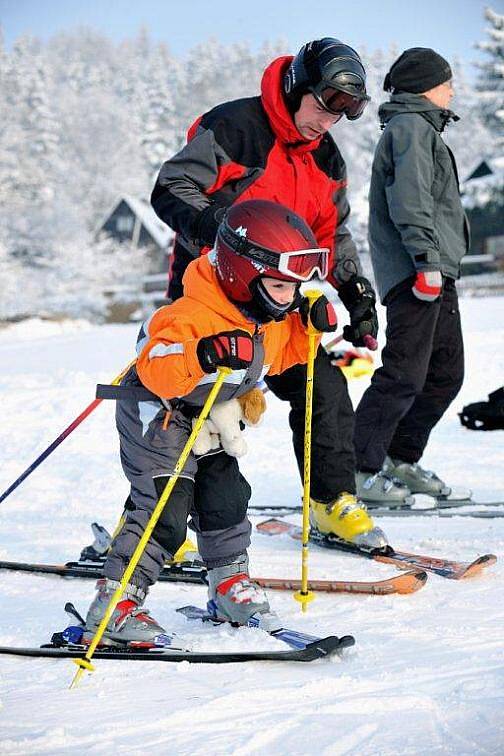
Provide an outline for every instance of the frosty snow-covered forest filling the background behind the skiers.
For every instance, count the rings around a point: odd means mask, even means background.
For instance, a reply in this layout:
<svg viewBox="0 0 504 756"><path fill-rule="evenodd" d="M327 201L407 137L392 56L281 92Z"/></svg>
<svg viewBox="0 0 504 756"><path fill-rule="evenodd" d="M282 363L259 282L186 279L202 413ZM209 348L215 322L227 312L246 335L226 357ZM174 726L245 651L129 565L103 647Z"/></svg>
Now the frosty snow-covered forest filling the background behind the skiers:
<svg viewBox="0 0 504 756"><path fill-rule="evenodd" d="M462 177L476 154L494 151L487 105L492 102L497 114L492 129L502 110L502 17L489 13L494 68L482 71L478 93L455 75L455 110L463 120L447 138ZM10 51L0 39L0 277L10 292L0 318L75 314L79 307L96 317L112 282L130 286L136 279L139 287L145 252L95 240L105 211L119 195L148 196L160 164L181 148L194 119L225 100L256 95L265 67L289 52L297 51L285 41L253 51L248 44L208 40L176 57L146 30L115 44L79 28L48 43L20 38ZM372 100L361 119L343 119L333 136L348 167L351 227L366 249L378 108L387 99L382 83L399 51L360 52Z"/></svg>

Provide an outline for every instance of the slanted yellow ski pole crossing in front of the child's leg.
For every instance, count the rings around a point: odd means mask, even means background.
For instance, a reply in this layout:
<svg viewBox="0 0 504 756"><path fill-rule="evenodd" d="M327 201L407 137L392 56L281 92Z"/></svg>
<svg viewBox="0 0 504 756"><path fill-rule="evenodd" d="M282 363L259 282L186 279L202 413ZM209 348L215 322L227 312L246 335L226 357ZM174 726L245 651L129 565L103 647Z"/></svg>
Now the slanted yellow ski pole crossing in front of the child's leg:
<svg viewBox="0 0 504 756"><path fill-rule="evenodd" d="M217 376L217 380L215 381L215 384L207 397L207 400L203 406L203 409L201 410L200 416L198 417L194 425L191 435L187 439L187 442L184 448L182 449L182 452L180 454L180 457L178 458L177 464L175 465L173 475L170 476L170 480L166 484L163 490L163 493L159 497L159 501L156 504L154 511L152 512L150 519L145 527L145 531L142 537L140 538L135 551L133 552L133 556L131 557L128 566L126 567L124 571L124 575L122 576L122 579L121 579L121 584L119 585L118 588L116 588L116 590L114 591L112 595L112 598L109 601L105 614L103 615L103 619L98 626L98 629L93 637L93 640L91 641L91 644L86 652L86 655L80 659L72 659L72 661L75 664L77 664L79 669L75 673L75 676L72 680L70 688L74 688L78 685L79 680L81 679L85 669L87 669L89 672L94 672L94 667L91 664L91 659L93 657L93 654L96 651L96 648L102 639L103 633L105 632L107 628L107 625L110 621L110 618L112 617L114 609L116 608L117 604L121 600L121 597L126 589L126 586L129 583L130 578L133 572L135 571L135 568L138 562L140 561L142 557L144 549L147 545L147 541L151 537L152 532L154 528L156 527L156 523L159 520L161 513L166 505L166 502L170 498L170 495L171 495L171 492L173 491L175 483L177 482L180 476L180 473L184 469L184 465L191 452L194 442L198 438L201 428L203 427L203 423L208 417L208 413L212 409L212 405L217 398L217 395L221 389L222 383L226 375L228 375L232 371L229 368L220 367L218 372L219 372L219 375Z"/></svg>

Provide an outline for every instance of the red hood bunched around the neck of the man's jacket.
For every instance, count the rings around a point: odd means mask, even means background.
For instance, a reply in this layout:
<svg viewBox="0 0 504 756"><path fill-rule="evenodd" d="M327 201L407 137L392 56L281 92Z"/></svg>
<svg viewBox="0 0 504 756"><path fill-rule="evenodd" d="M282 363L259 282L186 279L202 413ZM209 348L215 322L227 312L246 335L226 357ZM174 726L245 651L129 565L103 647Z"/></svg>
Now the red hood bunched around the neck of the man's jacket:
<svg viewBox="0 0 504 756"><path fill-rule="evenodd" d="M292 55L276 58L266 68L261 81L261 101L278 141L295 152L312 152L322 137L307 140L301 136L283 97L283 77L292 60Z"/></svg>

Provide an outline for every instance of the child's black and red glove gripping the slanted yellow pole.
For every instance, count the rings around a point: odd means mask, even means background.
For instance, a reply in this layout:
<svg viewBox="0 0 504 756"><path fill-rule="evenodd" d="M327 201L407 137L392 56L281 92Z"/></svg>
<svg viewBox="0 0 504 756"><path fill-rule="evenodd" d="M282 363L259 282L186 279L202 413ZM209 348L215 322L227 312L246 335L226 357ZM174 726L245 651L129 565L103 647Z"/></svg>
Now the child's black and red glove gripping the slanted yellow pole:
<svg viewBox="0 0 504 756"><path fill-rule="evenodd" d="M247 331L224 331L200 339L196 354L205 373L215 373L218 367L242 370L254 358L254 342Z"/></svg>

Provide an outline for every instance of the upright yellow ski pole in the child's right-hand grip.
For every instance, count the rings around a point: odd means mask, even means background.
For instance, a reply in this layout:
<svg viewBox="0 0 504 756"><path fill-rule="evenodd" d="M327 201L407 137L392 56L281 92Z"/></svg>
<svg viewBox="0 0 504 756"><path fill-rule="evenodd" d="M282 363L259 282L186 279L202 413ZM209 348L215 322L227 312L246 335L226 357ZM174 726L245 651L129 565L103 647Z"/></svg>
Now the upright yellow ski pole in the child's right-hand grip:
<svg viewBox="0 0 504 756"><path fill-rule="evenodd" d="M304 292L310 305L309 311L315 300L322 296L321 291L309 289ZM301 603L301 609L306 612L306 607L313 601L315 594L308 590L308 539L310 536L310 473L311 473L311 419L313 405L313 373L315 363L315 341L318 331L313 327L308 315L308 363L306 365L306 410L305 410L305 435L304 435L304 475L303 475L303 538L301 546L301 590L296 591L294 598Z"/></svg>

